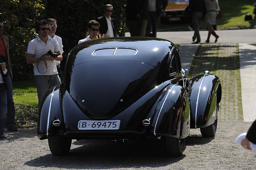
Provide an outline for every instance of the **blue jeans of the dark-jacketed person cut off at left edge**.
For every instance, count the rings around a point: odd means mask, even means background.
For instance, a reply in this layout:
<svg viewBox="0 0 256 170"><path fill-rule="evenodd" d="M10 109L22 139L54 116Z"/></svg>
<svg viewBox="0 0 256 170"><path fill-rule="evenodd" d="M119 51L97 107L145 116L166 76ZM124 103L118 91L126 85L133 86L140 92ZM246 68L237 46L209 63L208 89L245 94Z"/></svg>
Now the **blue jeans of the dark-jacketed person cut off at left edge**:
<svg viewBox="0 0 256 170"><path fill-rule="evenodd" d="M0 86L0 134L4 133L7 114L7 94L4 86Z"/></svg>

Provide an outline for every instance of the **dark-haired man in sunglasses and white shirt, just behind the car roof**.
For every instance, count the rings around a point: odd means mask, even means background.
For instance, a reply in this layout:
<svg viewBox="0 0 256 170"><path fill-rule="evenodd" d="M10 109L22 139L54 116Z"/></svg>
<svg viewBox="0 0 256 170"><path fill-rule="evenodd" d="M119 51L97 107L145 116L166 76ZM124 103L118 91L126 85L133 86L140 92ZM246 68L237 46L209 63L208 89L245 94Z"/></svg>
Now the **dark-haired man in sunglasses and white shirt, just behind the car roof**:
<svg viewBox="0 0 256 170"><path fill-rule="evenodd" d="M80 44L81 42L84 42L84 41L99 38L99 31L100 31L100 23L98 23L95 20L91 20L88 23L88 32L86 34L87 37L84 38L83 40L79 40L78 44Z"/></svg>

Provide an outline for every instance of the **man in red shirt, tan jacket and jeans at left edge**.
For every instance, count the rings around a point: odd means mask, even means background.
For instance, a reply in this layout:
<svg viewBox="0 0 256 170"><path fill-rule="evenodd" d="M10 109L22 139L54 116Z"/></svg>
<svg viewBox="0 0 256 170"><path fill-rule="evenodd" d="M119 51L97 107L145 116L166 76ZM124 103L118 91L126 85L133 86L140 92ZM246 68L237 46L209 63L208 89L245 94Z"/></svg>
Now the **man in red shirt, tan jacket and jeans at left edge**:
<svg viewBox="0 0 256 170"><path fill-rule="evenodd" d="M8 65L8 76L6 76L5 84L7 86L7 118L5 122L5 126L7 127L8 131L18 131L15 127L16 123L15 119L15 107L13 102L13 95L12 95L12 63L11 57L9 53L9 39L6 35L3 34L4 31L4 24L3 21L0 20L0 54L6 57L7 65Z"/></svg>

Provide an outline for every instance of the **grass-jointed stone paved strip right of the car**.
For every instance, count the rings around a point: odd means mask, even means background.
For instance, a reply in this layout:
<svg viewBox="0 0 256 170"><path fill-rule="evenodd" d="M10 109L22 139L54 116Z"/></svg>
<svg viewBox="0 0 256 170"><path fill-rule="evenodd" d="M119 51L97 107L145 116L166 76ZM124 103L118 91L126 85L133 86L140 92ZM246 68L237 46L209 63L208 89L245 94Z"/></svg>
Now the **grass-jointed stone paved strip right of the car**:
<svg viewBox="0 0 256 170"><path fill-rule="evenodd" d="M218 121L243 120L238 44L200 44L189 77L210 71L220 78L222 98Z"/></svg>

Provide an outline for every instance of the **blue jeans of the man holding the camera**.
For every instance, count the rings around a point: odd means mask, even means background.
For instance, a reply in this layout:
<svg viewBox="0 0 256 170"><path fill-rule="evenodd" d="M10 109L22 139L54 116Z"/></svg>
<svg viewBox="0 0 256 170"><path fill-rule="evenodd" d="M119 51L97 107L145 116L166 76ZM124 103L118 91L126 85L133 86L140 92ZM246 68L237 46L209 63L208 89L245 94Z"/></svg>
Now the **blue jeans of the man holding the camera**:
<svg viewBox="0 0 256 170"><path fill-rule="evenodd" d="M54 75L38 75L35 76L37 97L38 97L38 111L41 106L44 94L47 90L55 85L60 85L60 78L58 74Z"/></svg>

